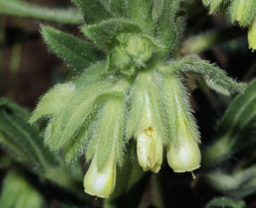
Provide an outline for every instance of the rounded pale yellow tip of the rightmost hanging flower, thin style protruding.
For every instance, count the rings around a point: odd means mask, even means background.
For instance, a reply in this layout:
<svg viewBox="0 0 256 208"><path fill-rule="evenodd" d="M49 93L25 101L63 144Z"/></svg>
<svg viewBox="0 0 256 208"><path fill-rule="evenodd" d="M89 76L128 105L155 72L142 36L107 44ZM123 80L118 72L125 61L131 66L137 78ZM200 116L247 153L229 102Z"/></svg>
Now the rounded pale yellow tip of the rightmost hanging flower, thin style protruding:
<svg viewBox="0 0 256 208"><path fill-rule="evenodd" d="M198 143L187 128L179 126L177 140L168 147L167 160L174 172L192 171L201 166Z"/></svg>

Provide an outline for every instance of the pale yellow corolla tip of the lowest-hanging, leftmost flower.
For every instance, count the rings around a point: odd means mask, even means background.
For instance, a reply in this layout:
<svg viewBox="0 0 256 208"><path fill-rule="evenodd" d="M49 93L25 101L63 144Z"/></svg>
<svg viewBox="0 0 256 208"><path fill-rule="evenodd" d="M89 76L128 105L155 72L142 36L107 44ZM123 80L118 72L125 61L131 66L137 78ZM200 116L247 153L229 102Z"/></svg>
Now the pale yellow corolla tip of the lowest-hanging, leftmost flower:
<svg viewBox="0 0 256 208"><path fill-rule="evenodd" d="M108 198L113 193L115 177L116 159L114 153L109 155L107 164L101 170L98 169L96 157L94 157L84 176L84 192L92 196Z"/></svg>

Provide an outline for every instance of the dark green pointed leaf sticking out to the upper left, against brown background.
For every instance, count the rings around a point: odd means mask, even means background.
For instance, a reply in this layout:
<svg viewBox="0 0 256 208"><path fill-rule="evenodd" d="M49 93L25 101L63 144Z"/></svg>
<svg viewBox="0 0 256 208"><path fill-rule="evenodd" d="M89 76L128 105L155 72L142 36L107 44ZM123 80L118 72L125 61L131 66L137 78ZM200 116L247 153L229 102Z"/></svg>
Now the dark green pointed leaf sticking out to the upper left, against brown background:
<svg viewBox="0 0 256 208"><path fill-rule="evenodd" d="M98 61L100 55L94 46L51 26L41 26L45 43L63 61L79 71L86 69L92 62Z"/></svg>

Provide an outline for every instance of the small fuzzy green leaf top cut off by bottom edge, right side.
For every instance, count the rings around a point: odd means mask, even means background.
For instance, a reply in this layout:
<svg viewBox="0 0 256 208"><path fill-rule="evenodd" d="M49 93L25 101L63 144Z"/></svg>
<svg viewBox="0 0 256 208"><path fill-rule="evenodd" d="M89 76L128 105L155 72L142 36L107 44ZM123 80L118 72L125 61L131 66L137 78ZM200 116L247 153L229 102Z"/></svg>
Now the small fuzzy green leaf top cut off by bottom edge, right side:
<svg viewBox="0 0 256 208"><path fill-rule="evenodd" d="M227 197L214 198L205 206L205 208L244 208L243 200L230 199Z"/></svg>

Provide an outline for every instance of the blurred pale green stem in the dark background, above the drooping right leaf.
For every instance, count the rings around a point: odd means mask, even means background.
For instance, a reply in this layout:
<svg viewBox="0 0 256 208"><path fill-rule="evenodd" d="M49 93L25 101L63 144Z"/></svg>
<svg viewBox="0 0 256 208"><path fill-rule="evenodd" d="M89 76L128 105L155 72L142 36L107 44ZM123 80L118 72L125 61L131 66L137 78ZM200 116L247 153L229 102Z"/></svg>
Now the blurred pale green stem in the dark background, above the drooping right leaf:
<svg viewBox="0 0 256 208"><path fill-rule="evenodd" d="M189 38L181 49L183 55L193 53L201 53L203 50L210 49L213 46L230 41L234 38L239 38L245 35L238 27L227 27L212 32L207 32L200 36Z"/></svg>

